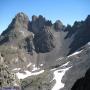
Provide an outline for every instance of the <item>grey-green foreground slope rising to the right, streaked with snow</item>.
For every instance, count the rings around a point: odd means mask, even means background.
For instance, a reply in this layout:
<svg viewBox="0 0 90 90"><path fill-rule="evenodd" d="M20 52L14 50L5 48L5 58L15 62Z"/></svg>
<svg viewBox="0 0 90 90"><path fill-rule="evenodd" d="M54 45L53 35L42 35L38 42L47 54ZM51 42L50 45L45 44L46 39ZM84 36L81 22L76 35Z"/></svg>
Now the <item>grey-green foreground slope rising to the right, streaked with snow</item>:
<svg viewBox="0 0 90 90"><path fill-rule="evenodd" d="M84 77L90 68L89 48L90 45L86 45L81 51L58 59L60 60L58 65L45 69L42 74L24 79L23 90L35 90L35 88L37 90L79 90L72 87L79 78Z"/></svg>

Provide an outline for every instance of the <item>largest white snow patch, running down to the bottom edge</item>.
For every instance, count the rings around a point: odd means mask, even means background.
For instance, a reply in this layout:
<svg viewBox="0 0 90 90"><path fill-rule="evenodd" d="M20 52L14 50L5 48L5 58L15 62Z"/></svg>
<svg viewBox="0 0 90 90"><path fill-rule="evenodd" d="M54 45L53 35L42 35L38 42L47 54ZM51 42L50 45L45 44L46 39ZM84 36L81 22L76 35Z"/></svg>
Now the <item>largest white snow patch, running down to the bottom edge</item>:
<svg viewBox="0 0 90 90"><path fill-rule="evenodd" d="M65 68L65 69L60 69L54 71L54 78L53 80L56 80L56 84L52 88L52 90L60 90L61 88L64 87L64 83L62 83L62 77L65 75L66 71L68 71L71 67Z"/></svg>

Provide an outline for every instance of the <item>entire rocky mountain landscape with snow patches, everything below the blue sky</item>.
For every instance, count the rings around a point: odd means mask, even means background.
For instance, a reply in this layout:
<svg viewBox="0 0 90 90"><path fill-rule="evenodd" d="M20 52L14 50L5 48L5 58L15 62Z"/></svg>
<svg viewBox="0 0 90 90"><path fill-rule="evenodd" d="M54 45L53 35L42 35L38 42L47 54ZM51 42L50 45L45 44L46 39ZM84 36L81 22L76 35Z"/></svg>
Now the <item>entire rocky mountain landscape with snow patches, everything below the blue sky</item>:
<svg viewBox="0 0 90 90"><path fill-rule="evenodd" d="M0 87L90 90L89 76L90 15L65 26L20 12L0 35Z"/></svg>

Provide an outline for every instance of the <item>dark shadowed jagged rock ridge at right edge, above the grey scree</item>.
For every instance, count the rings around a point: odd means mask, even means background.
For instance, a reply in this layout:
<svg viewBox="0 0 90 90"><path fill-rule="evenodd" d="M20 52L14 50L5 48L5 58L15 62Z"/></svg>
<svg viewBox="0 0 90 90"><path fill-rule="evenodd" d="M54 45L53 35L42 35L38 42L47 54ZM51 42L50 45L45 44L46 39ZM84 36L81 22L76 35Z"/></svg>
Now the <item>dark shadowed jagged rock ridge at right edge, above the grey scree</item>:
<svg viewBox="0 0 90 90"><path fill-rule="evenodd" d="M67 30L68 34L65 38L73 37L73 41L69 46L69 54L71 54L90 41L90 16L88 15L85 21L76 21L72 27L67 26Z"/></svg>

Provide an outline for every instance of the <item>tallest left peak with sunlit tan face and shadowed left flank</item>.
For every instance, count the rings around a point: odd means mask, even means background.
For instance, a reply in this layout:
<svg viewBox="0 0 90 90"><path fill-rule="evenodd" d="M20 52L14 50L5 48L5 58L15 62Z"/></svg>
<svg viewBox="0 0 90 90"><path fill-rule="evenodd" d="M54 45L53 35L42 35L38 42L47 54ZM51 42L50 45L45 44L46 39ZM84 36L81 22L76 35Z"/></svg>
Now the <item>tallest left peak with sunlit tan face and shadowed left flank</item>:
<svg viewBox="0 0 90 90"><path fill-rule="evenodd" d="M8 28L3 31L1 34L2 39L0 38L2 43L8 41L14 41L14 39L22 39L27 37L31 32L29 32L30 21L26 14L23 12L18 13L9 24ZM3 41L5 40L5 41ZM15 41L14 41L15 42Z"/></svg>

